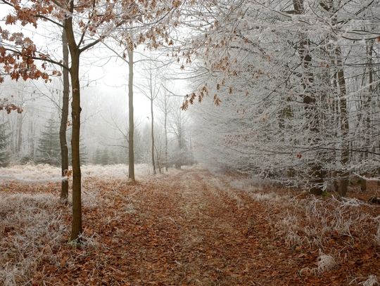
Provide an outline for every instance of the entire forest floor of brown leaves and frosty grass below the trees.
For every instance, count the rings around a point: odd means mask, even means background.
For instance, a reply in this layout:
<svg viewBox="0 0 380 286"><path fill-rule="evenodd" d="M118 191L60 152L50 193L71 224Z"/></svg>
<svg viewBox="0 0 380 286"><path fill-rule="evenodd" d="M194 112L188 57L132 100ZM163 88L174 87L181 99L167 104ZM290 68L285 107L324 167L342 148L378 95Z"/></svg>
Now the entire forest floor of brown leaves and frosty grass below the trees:
<svg viewBox="0 0 380 286"><path fill-rule="evenodd" d="M380 207L365 202L373 193L317 199L197 168L137 183L85 178L83 189L75 245L70 206L49 204L59 183L0 184L0 284L379 285ZM20 193L37 205L28 215L46 219L39 230L23 222L22 205L9 207Z"/></svg>

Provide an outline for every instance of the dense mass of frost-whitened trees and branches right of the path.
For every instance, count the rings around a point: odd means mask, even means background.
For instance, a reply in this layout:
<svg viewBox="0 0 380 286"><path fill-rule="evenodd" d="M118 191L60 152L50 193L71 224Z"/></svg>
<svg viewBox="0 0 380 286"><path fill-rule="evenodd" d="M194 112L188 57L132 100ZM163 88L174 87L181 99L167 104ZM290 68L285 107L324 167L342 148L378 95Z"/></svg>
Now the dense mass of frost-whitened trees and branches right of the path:
<svg viewBox="0 0 380 286"><path fill-rule="evenodd" d="M344 196L349 178L376 174L373 1L221 1L201 11L183 108L207 95L221 106L191 110L198 160L315 194L336 185Z"/></svg>

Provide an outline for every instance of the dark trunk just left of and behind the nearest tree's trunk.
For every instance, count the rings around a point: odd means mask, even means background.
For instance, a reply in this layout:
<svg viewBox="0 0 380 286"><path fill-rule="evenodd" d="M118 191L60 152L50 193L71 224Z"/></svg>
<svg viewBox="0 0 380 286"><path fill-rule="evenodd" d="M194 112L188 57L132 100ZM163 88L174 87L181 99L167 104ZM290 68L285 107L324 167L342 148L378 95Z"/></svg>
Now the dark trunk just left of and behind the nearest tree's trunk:
<svg viewBox="0 0 380 286"><path fill-rule="evenodd" d="M68 66L68 39L66 38L65 30L62 32L62 48L63 48L63 64ZM66 130L68 124L68 104L69 104L69 71L63 68L63 96L62 96L62 117L61 126L59 129L59 141L61 143L61 174L65 176L68 171L68 142L66 139ZM61 202L68 202L68 180L63 180L61 184Z"/></svg>

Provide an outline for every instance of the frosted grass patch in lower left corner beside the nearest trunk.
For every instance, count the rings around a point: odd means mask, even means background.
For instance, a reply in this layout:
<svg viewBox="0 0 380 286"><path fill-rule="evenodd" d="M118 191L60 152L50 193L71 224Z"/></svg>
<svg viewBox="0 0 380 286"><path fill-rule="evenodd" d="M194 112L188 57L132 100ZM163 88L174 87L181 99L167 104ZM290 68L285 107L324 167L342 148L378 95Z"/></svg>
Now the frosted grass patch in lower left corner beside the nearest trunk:
<svg viewBox="0 0 380 286"><path fill-rule="evenodd" d="M24 285L40 261L58 263L53 252L66 232L62 208L51 194L0 193L0 285Z"/></svg>

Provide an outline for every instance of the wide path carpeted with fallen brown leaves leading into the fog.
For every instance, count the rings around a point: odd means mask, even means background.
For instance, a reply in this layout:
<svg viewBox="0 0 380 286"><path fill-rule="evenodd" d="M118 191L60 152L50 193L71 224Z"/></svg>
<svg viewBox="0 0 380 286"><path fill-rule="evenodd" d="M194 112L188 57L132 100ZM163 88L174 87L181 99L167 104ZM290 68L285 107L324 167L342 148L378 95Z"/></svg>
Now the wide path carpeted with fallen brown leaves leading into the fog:
<svg viewBox="0 0 380 286"><path fill-rule="evenodd" d="M85 246L63 245L36 285L305 285L274 238L272 210L206 171L96 186Z"/></svg>

